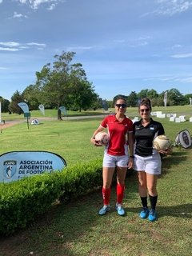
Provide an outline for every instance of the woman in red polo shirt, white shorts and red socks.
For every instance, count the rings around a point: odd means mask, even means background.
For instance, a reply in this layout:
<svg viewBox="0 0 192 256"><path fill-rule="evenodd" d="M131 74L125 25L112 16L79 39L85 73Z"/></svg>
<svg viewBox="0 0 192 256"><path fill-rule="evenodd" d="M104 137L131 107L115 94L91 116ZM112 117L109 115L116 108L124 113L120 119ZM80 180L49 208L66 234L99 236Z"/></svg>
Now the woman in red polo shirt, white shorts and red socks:
<svg viewBox="0 0 192 256"><path fill-rule="evenodd" d="M117 202L116 210L119 215L124 215L125 210L122 207L122 199L125 190L125 178L127 168L133 167L134 140L133 140L133 122L127 118L126 99L119 97L114 103L115 114L108 115L102 120L98 129L94 131L90 142L94 146L101 146L95 140L95 135L104 129L108 130L110 137L109 143L106 145L104 158L102 163L102 198L103 206L99 210L99 215L104 215L110 210L110 186L117 169Z"/></svg>

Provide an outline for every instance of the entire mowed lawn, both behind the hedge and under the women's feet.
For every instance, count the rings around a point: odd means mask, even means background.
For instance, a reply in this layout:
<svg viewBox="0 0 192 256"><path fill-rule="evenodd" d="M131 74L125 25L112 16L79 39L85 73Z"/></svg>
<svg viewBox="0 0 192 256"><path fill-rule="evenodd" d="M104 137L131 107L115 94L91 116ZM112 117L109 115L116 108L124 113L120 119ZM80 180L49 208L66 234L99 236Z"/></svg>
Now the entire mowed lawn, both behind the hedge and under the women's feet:
<svg viewBox="0 0 192 256"><path fill-rule="evenodd" d="M187 129L192 133L191 122L154 119L162 122L172 141L180 130ZM69 166L102 158L103 148L90 144L90 136L101 120L44 121L38 126L30 126L29 130L26 123L20 123L2 130L0 154L12 150L48 150L62 155ZM191 158L191 148L174 148L173 155L162 159L162 175L158 180L158 221L138 218L140 200L133 171L126 178L125 217L119 217L114 210L115 186L110 213L98 216L102 206L99 190L74 202L58 203L25 230L0 238L0 255L190 256Z"/></svg>

